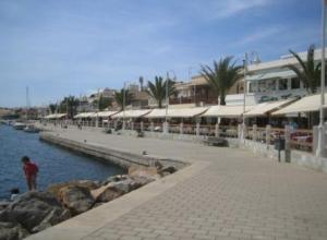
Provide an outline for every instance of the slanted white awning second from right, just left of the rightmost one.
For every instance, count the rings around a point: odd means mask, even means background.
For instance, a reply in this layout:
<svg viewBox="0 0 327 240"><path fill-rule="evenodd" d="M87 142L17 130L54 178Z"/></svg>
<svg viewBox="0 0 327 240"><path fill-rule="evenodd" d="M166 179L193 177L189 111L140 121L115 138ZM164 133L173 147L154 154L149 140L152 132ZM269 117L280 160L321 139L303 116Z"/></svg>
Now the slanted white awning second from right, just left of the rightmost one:
<svg viewBox="0 0 327 240"><path fill-rule="evenodd" d="M253 109L247 111L244 116L251 117L251 116L263 116L271 111L276 111L289 104L294 101L294 99L287 99L287 100L277 100L277 101L267 101L263 104L258 104L254 106Z"/></svg>

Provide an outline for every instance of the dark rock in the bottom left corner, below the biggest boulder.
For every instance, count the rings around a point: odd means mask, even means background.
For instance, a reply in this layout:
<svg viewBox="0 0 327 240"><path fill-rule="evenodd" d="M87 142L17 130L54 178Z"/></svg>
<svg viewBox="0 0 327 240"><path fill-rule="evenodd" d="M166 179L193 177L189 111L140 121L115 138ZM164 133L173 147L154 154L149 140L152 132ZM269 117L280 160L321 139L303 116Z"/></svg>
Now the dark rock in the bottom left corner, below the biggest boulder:
<svg viewBox="0 0 327 240"><path fill-rule="evenodd" d="M29 235L19 223L0 221L0 240L17 240Z"/></svg>

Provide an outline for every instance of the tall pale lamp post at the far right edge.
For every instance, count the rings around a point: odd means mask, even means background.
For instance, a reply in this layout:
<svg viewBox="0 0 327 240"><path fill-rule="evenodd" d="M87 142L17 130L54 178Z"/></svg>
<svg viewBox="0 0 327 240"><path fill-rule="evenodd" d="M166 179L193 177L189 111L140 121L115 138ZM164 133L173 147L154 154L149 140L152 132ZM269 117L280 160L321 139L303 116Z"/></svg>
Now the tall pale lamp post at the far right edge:
<svg viewBox="0 0 327 240"><path fill-rule="evenodd" d="M322 16L322 76L320 76L320 112L319 112L319 125L318 125L318 145L316 149L316 156L322 157L324 154L325 141L324 141L324 105L325 105L325 39L326 39L326 4L327 0L323 0L323 16Z"/></svg>

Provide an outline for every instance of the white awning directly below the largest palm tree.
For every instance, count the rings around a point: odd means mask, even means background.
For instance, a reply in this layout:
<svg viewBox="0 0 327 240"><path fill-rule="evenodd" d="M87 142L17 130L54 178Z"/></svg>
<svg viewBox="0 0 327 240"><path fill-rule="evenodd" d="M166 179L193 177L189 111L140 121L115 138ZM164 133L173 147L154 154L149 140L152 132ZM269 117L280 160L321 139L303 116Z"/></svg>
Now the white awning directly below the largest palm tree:
<svg viewBox="0 0 327 240"><path fill-rule="evenodd" d="M245 112L251 110L253 106L245 106ZM243 106L213 106L202 115L202 117L221 117L221 118L239 118L243 115Z"/></svg>

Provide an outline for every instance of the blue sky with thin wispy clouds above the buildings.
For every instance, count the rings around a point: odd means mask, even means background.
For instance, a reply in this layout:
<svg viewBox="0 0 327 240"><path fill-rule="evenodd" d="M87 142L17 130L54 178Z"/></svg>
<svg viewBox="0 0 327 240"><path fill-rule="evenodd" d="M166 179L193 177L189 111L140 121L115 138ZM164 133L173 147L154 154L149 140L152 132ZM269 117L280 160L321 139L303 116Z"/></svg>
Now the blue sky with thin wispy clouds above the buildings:
<svg viewBox="0 0 327 240"><path fill-rule="evenodd" d="M0 0L0 107L320 47L320 0Z"/></svg>

